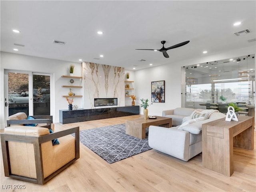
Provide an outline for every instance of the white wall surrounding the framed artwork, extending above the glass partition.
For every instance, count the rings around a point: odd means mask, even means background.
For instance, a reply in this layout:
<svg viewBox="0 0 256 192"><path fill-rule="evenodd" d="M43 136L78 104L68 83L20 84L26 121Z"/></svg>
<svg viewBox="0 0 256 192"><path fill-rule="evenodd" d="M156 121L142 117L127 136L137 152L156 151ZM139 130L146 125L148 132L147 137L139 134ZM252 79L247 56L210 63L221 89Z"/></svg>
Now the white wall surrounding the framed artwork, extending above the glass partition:
<svg viewBox="0 0 256 192"><path fill-rule="evenodd" d="M212 54L210 56L184 60L176 63L172 63L172 59L170 57L170 64L135 71L134 81L136 82L136 100L137 102L139 102L141 98L148 98L151 100L151 82L165 80L165 103L153 103L148 107L148 115L161 116L163 110L181 107L181 84L184 83L181 81L181 67L241 55L255 54L255 52L255 46L250 46L238 50L228 50L221 54ZM140 114L143 114L142 108L140 108Z"/></svg>

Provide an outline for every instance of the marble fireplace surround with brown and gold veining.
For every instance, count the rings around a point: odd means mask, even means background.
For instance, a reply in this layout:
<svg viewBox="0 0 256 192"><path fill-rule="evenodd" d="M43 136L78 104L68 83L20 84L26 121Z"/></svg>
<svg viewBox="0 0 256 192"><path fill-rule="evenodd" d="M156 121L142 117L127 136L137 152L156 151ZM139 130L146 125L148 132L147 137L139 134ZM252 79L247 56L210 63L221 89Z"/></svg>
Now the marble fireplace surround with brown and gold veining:
<svg viewBox="0 0 256 192"><path fill-rule="evenodd" d="M94 98L117 98L116 106L125 106L124 68L82 62L82 78L84 109L95 108Z"/></svg>

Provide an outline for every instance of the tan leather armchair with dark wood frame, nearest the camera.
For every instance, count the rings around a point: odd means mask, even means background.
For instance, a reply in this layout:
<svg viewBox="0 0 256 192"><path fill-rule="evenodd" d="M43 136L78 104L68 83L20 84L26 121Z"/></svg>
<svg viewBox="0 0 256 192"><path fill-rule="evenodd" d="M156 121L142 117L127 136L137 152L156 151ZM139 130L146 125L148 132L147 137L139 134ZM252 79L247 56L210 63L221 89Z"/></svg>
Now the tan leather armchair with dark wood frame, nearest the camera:
<svg viewBox="0 0 256 192"><path fill-rule="evenodd" d="M55 138L60 144L52 146ZM6 177L44 184L80 157L79 127L49 134L47 128L11 126L1 145Z"/></svg>

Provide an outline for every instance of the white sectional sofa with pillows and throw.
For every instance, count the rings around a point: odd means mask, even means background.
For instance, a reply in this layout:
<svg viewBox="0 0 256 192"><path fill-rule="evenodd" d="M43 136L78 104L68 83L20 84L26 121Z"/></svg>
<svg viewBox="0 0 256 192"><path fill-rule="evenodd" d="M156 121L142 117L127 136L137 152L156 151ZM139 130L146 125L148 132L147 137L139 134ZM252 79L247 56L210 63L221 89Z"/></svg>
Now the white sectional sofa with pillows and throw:
<svg viewBox="0 0 256 192"><path fill-rule="evenodd" d="M202 152L202 124L225 118L218 110L176 108L162 112L172 118L172 128L150 126L148 144L151 148L184 161Z"/></svg>

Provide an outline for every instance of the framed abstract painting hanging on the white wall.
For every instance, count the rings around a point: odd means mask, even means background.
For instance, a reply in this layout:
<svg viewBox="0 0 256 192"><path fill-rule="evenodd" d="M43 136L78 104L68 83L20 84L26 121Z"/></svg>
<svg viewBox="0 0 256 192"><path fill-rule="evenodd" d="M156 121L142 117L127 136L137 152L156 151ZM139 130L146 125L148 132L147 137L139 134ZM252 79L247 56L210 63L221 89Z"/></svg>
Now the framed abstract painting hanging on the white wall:
<svg viewBox="0 0 256 192"><path fill-rule="evenodd" d="M164 81L151 82L151 102L164 103Z"/></svg>

